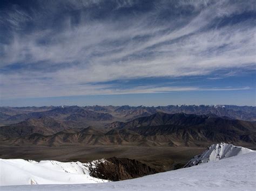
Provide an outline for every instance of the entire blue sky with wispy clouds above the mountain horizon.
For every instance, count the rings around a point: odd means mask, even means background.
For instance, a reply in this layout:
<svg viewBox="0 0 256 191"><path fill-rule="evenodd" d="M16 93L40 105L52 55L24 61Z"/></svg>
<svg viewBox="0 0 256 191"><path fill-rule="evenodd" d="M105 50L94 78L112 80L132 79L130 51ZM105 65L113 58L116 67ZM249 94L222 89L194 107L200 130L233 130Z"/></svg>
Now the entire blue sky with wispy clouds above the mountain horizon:
<svg viewBox="0 0 256 191"><path fill-rule="evenodd" d="M255 1L0 3L0 105L256 105Z"/></svg>

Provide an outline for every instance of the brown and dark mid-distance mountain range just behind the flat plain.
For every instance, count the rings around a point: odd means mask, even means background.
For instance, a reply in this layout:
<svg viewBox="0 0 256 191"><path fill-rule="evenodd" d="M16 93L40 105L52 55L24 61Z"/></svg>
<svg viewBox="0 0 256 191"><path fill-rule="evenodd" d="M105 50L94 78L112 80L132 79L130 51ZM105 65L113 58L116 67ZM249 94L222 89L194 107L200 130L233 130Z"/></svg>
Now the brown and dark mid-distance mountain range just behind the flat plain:
<svg viewBox="0 0 256 191"><path fill-rule="evenodd" d="M104 129L85 128L52 135L33 133L3 144L205 146L217 142L256 145L256 123L207 115L157 112Z"/></svg>

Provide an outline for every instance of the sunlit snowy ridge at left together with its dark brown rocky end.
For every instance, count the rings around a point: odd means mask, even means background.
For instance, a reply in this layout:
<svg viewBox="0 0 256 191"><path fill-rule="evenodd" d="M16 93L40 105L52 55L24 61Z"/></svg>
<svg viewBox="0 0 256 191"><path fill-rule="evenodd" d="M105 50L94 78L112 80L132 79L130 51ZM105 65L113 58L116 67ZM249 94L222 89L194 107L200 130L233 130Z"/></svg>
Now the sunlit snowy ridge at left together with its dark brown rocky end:
<svg viewBox="0 0 256 191"><path fill-rule="evenodd" d="M8 168L12 174L20 173L21 175L9 177ZM93 160L84 164L54 160L37 162L22 159L1 159L0 172L1 186L119 181L154 174L158 171L137 160L112 157Z"/></svg>

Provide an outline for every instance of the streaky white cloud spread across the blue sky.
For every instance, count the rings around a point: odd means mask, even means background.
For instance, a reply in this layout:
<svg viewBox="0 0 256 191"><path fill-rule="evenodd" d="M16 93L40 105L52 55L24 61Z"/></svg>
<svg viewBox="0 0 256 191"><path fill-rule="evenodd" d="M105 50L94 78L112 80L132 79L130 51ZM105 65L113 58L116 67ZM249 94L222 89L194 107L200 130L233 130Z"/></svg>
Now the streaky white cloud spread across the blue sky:
<svg viewBox="0 0 256 191"><path fill-rule="evenodd" d="M120 1L116 9L132 6L133 3ZM78 10L97 4L99 1L69 1L63 6ZM50 7L46 3L43 5ZM52 14L56 9L54 5L50 10ZM170 20L165 25L152 24L157 22L152 20L153 16L161 11L156 10L126 20L90 22L81 17L82 21L77 26L72 26L70 19L67 19L65 29L60 32L45 29L21 34L14 30L11 43L0 44L3 52L0 66L4 68L19 63L25 69L1 75L1 97L201 90L198 87L114 90L114 87L90 83L142 77L207 75L227 68L255 69L253 25L243 22L207 29L215 19L254 9L250 2L181 1L177 6L183 5L192 5L200 13L191 18L184 16ZM24 19L31 17L21 10L10 13L6 18L16 28ZM42 40L46 43L38 43Z"/></svg>

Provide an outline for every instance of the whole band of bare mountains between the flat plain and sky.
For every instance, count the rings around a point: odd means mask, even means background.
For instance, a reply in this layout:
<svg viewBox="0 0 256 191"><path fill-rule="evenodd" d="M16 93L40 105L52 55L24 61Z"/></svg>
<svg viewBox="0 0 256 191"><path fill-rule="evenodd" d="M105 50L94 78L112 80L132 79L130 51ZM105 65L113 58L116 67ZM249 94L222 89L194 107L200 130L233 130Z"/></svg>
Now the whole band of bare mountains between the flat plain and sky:
<svg viewBox="0 0 256 191"><path fill-rule="evenodd" d="M204 146L217 142L255 145L256 122L234 119L235 116L253 119L255 108L233 105L7 107L1 108L0 117L5 118L1 123L13 124L0 128L0 136L5 145ZM21 111L24 113L14 115ZM203 115L172 114L177 111ZM88 126L95 128L86 129Z"/></svg>

